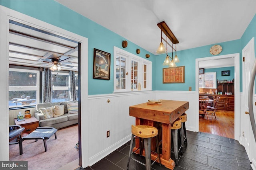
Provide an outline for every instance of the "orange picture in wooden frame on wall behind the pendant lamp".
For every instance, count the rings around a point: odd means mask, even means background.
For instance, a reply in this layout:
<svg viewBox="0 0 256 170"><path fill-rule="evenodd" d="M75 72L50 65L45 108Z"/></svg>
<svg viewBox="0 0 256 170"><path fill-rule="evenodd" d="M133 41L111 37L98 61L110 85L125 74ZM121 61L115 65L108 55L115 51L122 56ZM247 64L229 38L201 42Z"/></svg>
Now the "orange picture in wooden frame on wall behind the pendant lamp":
<svg viewBox="0 0 256 170"><path fill-rule="evenodd" d="M163 83L185 83L185 66L163 68Z"/></svg>

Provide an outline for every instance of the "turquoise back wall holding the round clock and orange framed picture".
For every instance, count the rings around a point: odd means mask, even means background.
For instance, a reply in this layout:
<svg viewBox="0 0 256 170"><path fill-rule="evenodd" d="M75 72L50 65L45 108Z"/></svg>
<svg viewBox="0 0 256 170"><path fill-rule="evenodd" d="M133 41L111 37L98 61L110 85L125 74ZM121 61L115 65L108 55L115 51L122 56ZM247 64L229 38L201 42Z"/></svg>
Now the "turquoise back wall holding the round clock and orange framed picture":
<svg viewBox="0 0 256 170"><path fill-rule="evenodd" d="M227 55L232 53L240 53L240 40L228 41L223 43L216 43L222 46L222 52L219 55ZM197 47L193 49L187 49L177 51L177 55L180 59L180 63L177 66L185 66L185 83L162 83L162 64L166 55L156 56L156 90L184 90L188 91L189 87L192 87L192 91L196 89L196 59L203 57L212 57L210 54L210 48L212 45L206 45L203 47ZM177 45L178 49L178 45ZM170 54L171 55L171 54ZM215 55L216 56L216 55ZM198 73L198 71L197 71ZM161 75L161 76L160 76Z"/></svg>

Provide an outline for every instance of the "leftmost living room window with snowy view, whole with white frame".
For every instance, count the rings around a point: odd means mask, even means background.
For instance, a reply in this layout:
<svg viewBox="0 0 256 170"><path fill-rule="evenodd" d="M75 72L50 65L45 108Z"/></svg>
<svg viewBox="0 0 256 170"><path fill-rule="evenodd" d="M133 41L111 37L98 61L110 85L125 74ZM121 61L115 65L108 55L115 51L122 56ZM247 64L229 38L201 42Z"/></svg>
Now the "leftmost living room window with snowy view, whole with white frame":
<svg viewBox="0 0 256 170"><path fill-rule="evenodd" d="M9 68L9 107L34 106L39 102L39 71Z"/></svg>

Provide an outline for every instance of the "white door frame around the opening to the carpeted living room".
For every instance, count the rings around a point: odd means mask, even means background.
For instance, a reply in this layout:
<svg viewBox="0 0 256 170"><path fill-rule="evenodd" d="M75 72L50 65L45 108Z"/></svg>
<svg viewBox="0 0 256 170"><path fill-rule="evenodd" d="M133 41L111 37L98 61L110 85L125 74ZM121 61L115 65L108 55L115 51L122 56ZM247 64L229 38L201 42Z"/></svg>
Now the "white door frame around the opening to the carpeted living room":
<svg viewBox="0 0 256 170"><path fill-rule="evenodd" d="M9 108L8 108L8 76L9 76L9 20L18 21L40 28L44 31L68 37L81 43L80 64L83 66L80 72L81 84L81 147L82 165L89 165L88 153L88 39L60 27L56 27L44 21L24 15L20 12L0 6L0 160L9 160ZM85 122L84 120L87 120Z"/></svg>

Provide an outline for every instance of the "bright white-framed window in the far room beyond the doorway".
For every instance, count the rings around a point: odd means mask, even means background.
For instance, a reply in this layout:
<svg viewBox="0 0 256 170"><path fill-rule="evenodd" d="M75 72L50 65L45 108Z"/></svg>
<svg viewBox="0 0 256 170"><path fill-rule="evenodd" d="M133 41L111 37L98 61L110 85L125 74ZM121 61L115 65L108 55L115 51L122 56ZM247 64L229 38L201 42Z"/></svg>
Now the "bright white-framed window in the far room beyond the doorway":
<svg viewBox="0 0 256 170"><path fill-rule="evenodd" d="M199 74L199 88L217 88L216 87L216 72L205 72Z"/></svg>

